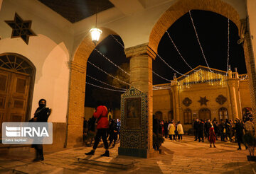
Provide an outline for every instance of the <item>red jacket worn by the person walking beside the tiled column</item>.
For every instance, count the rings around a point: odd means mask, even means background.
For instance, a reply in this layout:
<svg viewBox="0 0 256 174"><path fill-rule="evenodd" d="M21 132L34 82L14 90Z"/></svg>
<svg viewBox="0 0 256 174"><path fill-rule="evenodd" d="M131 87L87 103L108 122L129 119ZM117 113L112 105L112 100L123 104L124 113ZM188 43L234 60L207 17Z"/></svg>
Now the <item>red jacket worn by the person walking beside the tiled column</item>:
<svg viewBox="0 0 256 174"><path fill-rule="evenodd" d="M107 129L109 127L109 121L107 119L107 108L104 105L97 107L93 116L97 119L97 129Z"/></svg>

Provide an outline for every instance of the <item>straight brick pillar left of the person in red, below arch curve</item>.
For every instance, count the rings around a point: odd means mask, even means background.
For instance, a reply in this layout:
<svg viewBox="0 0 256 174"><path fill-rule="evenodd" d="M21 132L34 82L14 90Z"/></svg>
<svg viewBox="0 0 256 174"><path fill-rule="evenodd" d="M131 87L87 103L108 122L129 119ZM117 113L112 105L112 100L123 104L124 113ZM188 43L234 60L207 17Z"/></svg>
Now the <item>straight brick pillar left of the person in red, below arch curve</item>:
<svg viewBox="0 0 256 174"><path fill-rule="evenodd" d="M71 62L68 117L64 147L82 146L86 66ZM63 130L64 131L64 130Z"/></svg>

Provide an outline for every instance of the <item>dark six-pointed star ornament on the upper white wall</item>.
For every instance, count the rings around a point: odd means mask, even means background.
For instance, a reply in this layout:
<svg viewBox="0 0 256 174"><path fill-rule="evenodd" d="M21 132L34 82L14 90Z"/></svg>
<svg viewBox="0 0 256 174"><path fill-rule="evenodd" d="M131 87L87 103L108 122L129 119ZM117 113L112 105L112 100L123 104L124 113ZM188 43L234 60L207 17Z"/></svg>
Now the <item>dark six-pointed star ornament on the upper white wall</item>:
<svg viewBox="0 0 256 174"><path fill-rule="evenodd" d="M21 37L28 45L29 36L36 36L31 30L32 21L23 21L17 13L15 13L14 21L5 21L13 30L11 38Z"/></svg>

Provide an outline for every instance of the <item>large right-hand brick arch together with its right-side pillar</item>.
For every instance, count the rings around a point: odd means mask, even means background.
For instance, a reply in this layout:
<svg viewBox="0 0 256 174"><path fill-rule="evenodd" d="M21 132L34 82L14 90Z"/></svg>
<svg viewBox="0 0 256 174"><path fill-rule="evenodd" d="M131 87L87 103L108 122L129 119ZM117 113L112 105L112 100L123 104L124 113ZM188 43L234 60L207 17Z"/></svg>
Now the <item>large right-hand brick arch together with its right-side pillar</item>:
<svg viewBox="0 0 256 174"><path fill-rule="evenodd" d="M161 37L168 28L181 18L181 16L191 10L212 11L226 18L229 18L238 27L238 33L245 41L243 43L245 52L245 63L247 74L249 75L250 99L252 101L252 112L256 110L256 70L255 57L252 51L252 40L250 37L250 28L247 19L240 18L238 11L230 4L222 0L178 0L167 11L165 11L149 35L148 54L156 57L157 49ZM255 116L255 115L254 115Z"/></svg>

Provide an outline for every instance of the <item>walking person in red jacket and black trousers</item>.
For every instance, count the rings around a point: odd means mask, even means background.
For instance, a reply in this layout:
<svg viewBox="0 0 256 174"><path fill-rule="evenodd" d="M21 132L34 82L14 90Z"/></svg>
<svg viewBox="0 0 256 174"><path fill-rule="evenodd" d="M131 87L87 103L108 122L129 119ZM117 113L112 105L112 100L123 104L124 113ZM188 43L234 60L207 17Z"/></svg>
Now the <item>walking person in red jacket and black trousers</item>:
<svg viewBox="0 0 256 174"><path fill-rule="evenodd" d="M99 102L97 105L97 110L95 110L93 113L93 117L97 119L97 133L95 136L95 143L92 147L92 151L85 153L85 155L94 155L95 150L97 149L97 146L100 142L100 138L102 138L106 151L101 156L110 156L110 151L108 150L109 146L107 144L107 129L109 128L109 121L107 119L107 107Z"/></svg>

